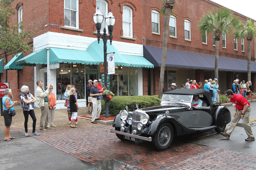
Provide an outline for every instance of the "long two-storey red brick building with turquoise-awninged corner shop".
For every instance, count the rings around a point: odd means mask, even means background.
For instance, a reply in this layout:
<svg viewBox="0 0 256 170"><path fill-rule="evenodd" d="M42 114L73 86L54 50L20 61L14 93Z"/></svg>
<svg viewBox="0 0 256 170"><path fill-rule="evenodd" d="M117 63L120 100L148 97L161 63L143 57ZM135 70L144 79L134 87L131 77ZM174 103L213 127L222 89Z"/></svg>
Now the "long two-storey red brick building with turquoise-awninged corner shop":
<svg viewBox="0 0 256 170"><path fill-rule="evenodd" d="M23 58L18 61L23 69L8 70L7 82L10 82L14 99L19 100L22 85L28 85L34 94L36 81L43 80L45 85L56 85L53 92L60 99L57 101L57 108L63 107L64 101L61 99L68 84L76 86L79 106L85 106L87 80L99 79L102 74L99 63L103 62L103 44L97 42L97 32L92 19L98 6L105 17L111 10L116 18L113 42L111 46L108 44L108 52L115 52L116 59L113 91L116 95L131 94L131 91L134 95L157 94L160 66L157 62L152 62L156 56L153 56L148 50L151 47L154 47L153 51L158 48L161 50L162 47L164 16L159 14L162 5L161 1L152 0L44 0L36 1L36 3L31 0L14 0L13 8L17 10L17 15L13 16L13 19L14 21L22 19L25 25L28 24L28 29L35 31L31 44L37 52L23 53ZM198 60L214 56L215 48L212 35L208 34L204 40L206 42L203 43L196 25L204 12L218 7L221 6L209 0L177 1L174 7L175 14L171 16L170 20L172 21L170 25L172 35L168 38L168 49L176 50L173 52L177 55L182 52L189 53L189 55L202 54L203 56L199 55L201 58ZM237 12L234 14L243 21L246 20L245 16ZM20 16L22 17L20 18ZM103 27L107 28L105 23L102 24ZM187 33L186 37L184 28ZM223 61L228 61L225 58L245 61L247 59L246 39L244 40L244 51L242 51L241 40L237 40L237 49L234 50L233 34L230 33L225 37L225 47L221 48L220 41L219 52L219 56L224 58ZM254 41L252 41L251 56L255 63L254 48ZM8 62L12 57L8 56ZM152 63L146 60L148 57L151 57L148 60ZM168 61L172 61L172 57L174 56L170 55ZM232 60L232 62L240 60ZM60 64L56 65L56 63ZM221 61L219 61L220 63ZM210 66L209 69L205 69L204 67L185 67L184 63L166 64L167 88L168 84L172 82L175 82L180 88L181 84L186 83L187 78L196 79L197 82L214 78L214 68L212 69ZM236 70L236 66L233 70L220 69L221 92L230 88L234 78L246 80L247 74L246 71L243 71ZM252 69L252 72L254 85L256 70ZM5 70L0 76L1 81L5 82Z"/></svg>

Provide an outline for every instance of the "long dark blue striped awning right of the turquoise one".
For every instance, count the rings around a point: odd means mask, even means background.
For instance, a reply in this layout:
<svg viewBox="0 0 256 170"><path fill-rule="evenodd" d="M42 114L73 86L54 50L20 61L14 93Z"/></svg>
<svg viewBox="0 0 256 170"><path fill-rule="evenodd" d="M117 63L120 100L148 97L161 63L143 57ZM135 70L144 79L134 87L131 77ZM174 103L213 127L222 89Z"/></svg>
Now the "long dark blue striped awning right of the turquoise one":
<svg viewBox="0 0 256 170"><path fill-rule="evenodd" d="M161 67L163 48L143 45L144 57L155 67ZM215 55L193 53L167 48L166 67L214 70ZM247 72L247 60L219 56L219 70ZM251 61L251 71L256 72L256 62Z"/></svg>

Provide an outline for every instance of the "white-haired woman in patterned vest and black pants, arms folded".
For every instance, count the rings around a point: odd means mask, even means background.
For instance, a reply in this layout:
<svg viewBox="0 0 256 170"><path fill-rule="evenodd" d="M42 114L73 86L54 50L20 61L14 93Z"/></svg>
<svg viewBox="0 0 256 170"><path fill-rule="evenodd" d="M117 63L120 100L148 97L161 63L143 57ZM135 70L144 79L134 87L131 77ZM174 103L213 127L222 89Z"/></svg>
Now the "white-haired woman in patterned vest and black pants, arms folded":
<svg viewBox="0 0 256 170"><path fill-rule="evenodd" d="M23 85L20 89L20 105L23 109L23 114L25 118L24 127L25 127L25 136L28 137L28 115L33 120L33 130L32 135L40 135L39 133L36 133L36 115L34 112L34 103L36 102L35 97L29 92L29 88L26 85Z"/></svg>

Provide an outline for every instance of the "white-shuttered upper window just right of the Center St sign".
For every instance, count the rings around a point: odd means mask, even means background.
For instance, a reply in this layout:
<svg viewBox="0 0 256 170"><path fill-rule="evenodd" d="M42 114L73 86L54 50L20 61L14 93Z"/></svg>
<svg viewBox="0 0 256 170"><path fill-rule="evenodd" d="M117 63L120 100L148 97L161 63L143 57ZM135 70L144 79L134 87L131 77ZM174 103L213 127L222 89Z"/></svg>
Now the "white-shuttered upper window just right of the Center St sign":
<svg viewBox="0 0 256 170"><path fill-rule="evenodd" d="M78 28L78 0L64 0L64 25Z"/></svg>

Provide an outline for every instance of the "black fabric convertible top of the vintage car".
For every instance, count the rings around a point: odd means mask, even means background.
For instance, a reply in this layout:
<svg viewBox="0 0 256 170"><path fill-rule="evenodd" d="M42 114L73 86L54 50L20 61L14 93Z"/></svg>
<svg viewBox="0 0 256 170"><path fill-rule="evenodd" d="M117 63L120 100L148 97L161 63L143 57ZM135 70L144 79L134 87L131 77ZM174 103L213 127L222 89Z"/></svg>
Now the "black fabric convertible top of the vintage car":
<svg viewBox="0 0 256 170"><path fill-rule="evenodd" d="M207 100L209 101L210 106L212 107L213 101L212 101L212 96L211 96L211 92L207 91L207 90L203 90L203 89L175 89L169 92L164 92L163 94L184 94L184 95L199 95L199 94L203 94ZM201 98L204 99L204 98Z"/></svg>

